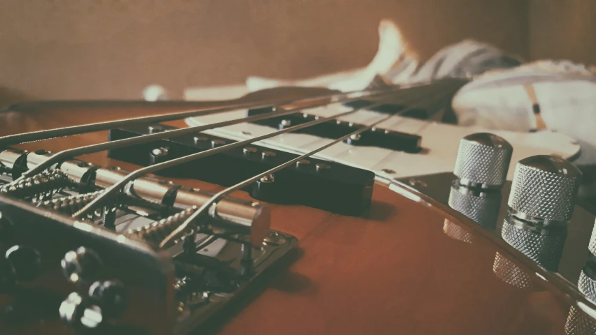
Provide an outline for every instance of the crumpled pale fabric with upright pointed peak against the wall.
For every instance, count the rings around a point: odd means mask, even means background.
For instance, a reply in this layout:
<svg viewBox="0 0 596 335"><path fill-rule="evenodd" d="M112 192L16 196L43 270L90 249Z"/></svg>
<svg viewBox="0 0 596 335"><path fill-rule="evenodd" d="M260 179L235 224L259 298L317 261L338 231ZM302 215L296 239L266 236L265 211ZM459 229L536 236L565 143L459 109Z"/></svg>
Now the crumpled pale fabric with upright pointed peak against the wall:
<svg viewBox="0 0 596 335"><path fill-rule="evenodd" d="M302 80L249 77L249 91L278 86L328 87L340 91L365 89L376 75L393 84L428 82L442 77L472 77L498 68L512 68L522 59L493 45L463 40L439 50L424 64L408 49L398 27L390 20L379 24L379 48L365 68L331 73Z"/></svg>

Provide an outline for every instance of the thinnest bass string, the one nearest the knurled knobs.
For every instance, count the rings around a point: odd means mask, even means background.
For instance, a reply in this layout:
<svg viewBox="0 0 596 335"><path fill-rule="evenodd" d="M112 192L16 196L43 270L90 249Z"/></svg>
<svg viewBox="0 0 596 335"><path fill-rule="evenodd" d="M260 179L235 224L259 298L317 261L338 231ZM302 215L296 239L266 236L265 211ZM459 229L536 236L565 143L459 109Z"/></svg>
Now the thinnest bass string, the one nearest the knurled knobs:
<svg viewBox="0 0 596 335"><path fill-rule="evenodd" d="M441 94L442 97L446 96L446 93ZM444 98L442 98L441 100L444 100ZM436 105L437 103L435 103ZM407 112L407 110L412 110L414 107L408 107L403 111L398 112L398 114L402 114L402 112ZM267 170L266 172L262 172L260 174L257 174L254 177L251 177L249 179L246 179L245 181L240 181L240 183L235 184L234 186L230 186L226 189L224 189L223 191L220 191L219 193L216 193L215 195L212 196L212 198L210 198L209 200L207 200L205 203L203 203L203 205L201 207L199 207L193 214L191 214L191 216L189 216L187 218L187 220L184 221L184 223L182 223L180 226L178 226L178 228L176 228L173 232L171 232L168 237L166 237L165 239L163 239L163 241L160 242L159 244L159 248L166 248L168 246L170 246L173 241L175 241L176 239L180 238L183 236L184 231L187 230L187 228L189 228L189 226L192 224L192 222L194 220L196 220L196 218L198 216L200 216L201 214L203 214L205 211L207 211L208 209L210 210L210 215L211 216L216 216L217 215L217 209L216 206L213 206L214 204L216 204L217 202L219 202L221 199L225 198L226 195L234 192L234 191L238 191L241 188L248 186L249 184L254 183L255 181L269 176L270 174L273 174L279 170L282 170L284 168L287 168L288 166L303 160L305 158L308 158L314 154L317 154L319 151L323 151L324 149L327 149L328 147L333 146L334 144L337 144L339 142L342 142L343 140L346 140L347 138L354 136L354 135L358 135L360 133L363 133L364 131L368 131L369 129L377 126L377 124L381 124L381 122L387 121L388 119L391 119L391 117L393 117L394 115L388 115L378 121L373 122L372 124L369 124L368 126L364 126L363 128L359 128L356 131L353 131L347 135L344 135L340 138L337 138L336 140L333 140L332 142L329 142L328 144L325 144L317 149L314 149L312 151L307 152L306 154L303 154L302 156L298 156L296 158L293 158L291 161L287 161L286 163L283 163L281 165L277 165L275 168L271 168L270 170ZM275 181L273 181L275 182Z"/></svg>

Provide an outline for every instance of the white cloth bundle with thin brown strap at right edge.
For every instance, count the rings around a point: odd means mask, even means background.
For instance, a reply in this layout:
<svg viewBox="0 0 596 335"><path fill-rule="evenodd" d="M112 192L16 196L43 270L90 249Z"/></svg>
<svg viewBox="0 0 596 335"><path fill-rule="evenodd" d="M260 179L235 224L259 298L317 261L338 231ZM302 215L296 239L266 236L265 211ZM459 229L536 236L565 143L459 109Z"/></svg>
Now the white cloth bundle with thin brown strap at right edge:
<svg viewBox="0 0 596 335"><path fill-rule="evenodd" d="M530 131L537 127L531 85L546 128L574 138L580 156L574 161L586 183L596 182L596 73L570 61L536 61L490 71L458 91L451 103L463 126ZM586 191L586 190L584 190ZM590 188L590 193L596 188Z"/></svg>

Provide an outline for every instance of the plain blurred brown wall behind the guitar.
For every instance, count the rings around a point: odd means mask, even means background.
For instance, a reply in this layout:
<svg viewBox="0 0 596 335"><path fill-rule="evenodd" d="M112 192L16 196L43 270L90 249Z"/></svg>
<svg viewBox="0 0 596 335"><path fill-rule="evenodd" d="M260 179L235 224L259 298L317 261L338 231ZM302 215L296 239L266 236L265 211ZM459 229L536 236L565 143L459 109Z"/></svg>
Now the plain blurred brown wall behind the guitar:
<svg viewBox="0 0 596 335"><path fill-rule="evenodd" d="M596 63L595 10L592 0L3 0L0 99L140 98L154 83L181 96L248 75L365 66L382 18L422 59L476 38Z"/></svg>

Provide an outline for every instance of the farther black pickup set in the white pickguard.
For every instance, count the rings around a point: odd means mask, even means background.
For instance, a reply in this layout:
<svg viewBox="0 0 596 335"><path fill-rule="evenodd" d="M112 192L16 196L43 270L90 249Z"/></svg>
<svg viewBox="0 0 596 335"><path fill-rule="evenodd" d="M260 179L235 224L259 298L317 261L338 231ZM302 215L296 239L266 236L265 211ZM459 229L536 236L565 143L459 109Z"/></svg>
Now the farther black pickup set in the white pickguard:
<svg viewBox="0 0 596 335"><path fill-rule="evenodd" d="M248 111L248 115L256 115L268 113L269 108L259 108ZM308 113L290 114L283 117L271 117L260 121L254 121L254 124L261 126L268 126L276 129L288 128L290 126L297 126L306 122L314 121L317 115ZM363 128L363 124L355 124L348 121L330 120L322 124L310 126L307 128L293 131L293 133L303 133L308 135L315 135L318 137L337 139L352 133L359 128ZM363 147L380 147L391 149L395 151L405 151L412 154L419 153L422 150L422 137L419 135L412 135L408 133L401 133L399 131L391 131L388 129L371 128L363 131L356 138L349 138L345 140L347 144L363 146Z"/></svg>

